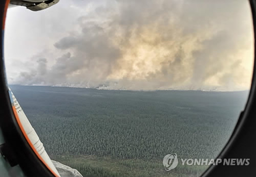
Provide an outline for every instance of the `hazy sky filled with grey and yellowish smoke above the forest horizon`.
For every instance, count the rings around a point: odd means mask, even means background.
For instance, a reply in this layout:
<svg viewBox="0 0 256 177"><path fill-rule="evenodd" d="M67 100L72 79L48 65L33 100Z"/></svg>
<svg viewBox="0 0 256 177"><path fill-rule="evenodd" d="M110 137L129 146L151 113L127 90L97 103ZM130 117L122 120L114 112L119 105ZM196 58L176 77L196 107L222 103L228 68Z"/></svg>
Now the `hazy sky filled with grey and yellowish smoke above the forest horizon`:
<svg viewBox="0 0 256 177"><path fill-rule="evenodd" d="M9 84L244 90L252 59L243 0L60 0L7 14Z"/></svg>

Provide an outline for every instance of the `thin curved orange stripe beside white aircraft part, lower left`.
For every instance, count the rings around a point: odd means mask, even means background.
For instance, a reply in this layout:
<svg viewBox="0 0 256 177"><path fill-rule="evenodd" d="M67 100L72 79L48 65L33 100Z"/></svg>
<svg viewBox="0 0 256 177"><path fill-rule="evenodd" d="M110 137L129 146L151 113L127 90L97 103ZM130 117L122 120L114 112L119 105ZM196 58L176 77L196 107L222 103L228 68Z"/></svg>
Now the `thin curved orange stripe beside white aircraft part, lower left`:
<svg viewBox="0 0 256 177"><path fill-rule="evenodd" d="M42 157L39 155L39 153L37 152L37 150L36 150L36 148L34 147L34 145L32 144L32 142L30 141L28 135L26 134L26 132L25 132L25 130L24 130L24 128L23 128L22 122L20 122L20 120L19 120L18 113L17 113L17 111L16 111L16 109L15 109L15 106L12 106L12 110L13 110L13 113L14 113L14 115L15 115L15 118L16 118L16 120L17 120L17 123L18 123L18 125L19 125L20 130L22 130L23 135L25 136L26 140L28 141L30 147L33 149L33 151L34 151L34 153L36 154L36 156L42 161L42 163L45 164L45 166L53 173L54 176L59 177L59 175L57 175L57 174L48 166L48 164L44 161L44 159L42 159Z"/></svg>

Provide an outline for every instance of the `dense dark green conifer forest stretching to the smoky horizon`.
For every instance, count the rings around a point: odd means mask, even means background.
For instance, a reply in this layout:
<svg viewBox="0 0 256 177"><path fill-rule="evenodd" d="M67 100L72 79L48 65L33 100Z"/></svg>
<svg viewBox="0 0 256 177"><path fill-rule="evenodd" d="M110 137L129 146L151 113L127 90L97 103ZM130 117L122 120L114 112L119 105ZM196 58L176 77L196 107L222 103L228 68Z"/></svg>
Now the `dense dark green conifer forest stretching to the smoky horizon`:
<svg viewBox="0 0 256 177"><path fill-rule="evenodd" d="M10 86L52 159L85 176L198 175L167 172L165 155L215 158L247 91L124 91Z"/></svg>

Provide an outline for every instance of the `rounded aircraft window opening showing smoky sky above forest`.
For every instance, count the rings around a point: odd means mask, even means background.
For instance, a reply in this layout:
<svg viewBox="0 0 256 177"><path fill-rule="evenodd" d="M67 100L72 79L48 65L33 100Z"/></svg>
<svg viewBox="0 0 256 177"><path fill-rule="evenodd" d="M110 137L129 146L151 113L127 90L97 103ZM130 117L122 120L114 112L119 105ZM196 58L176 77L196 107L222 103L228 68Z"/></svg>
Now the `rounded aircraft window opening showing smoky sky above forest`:
<svg viewBox="0 0 256 177"><path fill-rule="evenodd" d="M200 176L245 107L253 47L239 0L59 1L10 8L5 28L10 89L59 174L84 177Z"/></svg>

